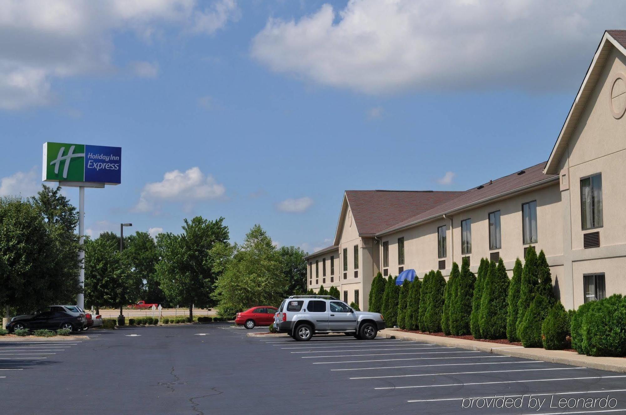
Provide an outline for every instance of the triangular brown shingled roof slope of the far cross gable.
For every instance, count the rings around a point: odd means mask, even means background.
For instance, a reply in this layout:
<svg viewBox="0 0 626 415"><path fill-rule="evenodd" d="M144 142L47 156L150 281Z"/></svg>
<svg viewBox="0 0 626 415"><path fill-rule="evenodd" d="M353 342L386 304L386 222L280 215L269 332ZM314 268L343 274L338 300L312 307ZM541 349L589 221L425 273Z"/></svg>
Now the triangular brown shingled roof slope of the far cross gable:
<svg viewBox="0 0 626 415"><path fill-rule="evenodd" d="M464 192L347 190L352 217L361 235L381 232Z"/></svg>

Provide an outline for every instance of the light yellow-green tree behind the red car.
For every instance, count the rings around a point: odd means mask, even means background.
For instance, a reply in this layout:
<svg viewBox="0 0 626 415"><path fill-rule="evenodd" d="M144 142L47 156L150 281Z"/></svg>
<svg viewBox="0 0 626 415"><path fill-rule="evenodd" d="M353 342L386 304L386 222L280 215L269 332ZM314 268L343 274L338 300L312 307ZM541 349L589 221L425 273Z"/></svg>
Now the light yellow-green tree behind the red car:
<svg viewBox="0 0 626 415"><path fill-rule="evenodd" d="M217 281L215 298L220 316L232 317L238 311L259 304L280 304L287 279L272 239L258 224L246 234L244 244L228 262Z"/></svg>

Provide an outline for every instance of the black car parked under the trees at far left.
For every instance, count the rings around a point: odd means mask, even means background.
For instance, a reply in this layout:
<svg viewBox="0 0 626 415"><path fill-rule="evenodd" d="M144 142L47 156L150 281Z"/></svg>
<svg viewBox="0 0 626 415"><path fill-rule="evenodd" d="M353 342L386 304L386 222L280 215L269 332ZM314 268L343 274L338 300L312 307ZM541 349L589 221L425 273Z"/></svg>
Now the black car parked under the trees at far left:
<svg viewBox="0 0 626 415"><path fill-rule="evenodd" d="M8 331L15 329L70 329L71 331L83 328L83 317L68 312L63 306L43 307L33 314L16 316L6 325Z"/></svg>

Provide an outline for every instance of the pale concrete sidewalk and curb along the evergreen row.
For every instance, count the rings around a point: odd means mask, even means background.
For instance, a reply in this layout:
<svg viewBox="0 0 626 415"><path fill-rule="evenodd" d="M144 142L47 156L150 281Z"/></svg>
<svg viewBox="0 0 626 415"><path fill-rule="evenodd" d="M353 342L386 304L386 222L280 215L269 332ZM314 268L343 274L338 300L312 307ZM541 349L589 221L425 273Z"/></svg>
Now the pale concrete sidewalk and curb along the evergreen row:
<svg viewBox="0 0 626 415"><path fill-rule="evenodd" d="M524 359L569 364L578 367L591 367L605 371L626 372L626 358L623 357L592 357L564 350L526 348L509 344L455 339L453 337L429 336L428 334L398 331L398 329L384 329L379 331L379 336L380 335L387 338L421 341L438 344L439 346L458 347L459 349L503 354L505 356L522 357Z"/></svg>

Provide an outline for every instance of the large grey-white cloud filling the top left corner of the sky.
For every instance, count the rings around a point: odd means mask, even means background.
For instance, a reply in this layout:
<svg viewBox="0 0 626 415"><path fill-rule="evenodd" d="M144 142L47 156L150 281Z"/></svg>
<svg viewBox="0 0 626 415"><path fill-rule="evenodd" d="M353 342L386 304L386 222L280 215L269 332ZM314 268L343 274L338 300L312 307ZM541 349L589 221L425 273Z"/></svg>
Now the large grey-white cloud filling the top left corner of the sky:
<svg viewBox="0 0 626 415"><path fill-rule="evenodd" d="M110 71L115 34L213 34L239 16L235 0L0 0L0 109L49 104L54 79Z"/></svg>

